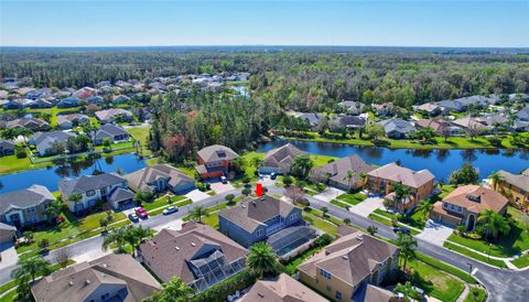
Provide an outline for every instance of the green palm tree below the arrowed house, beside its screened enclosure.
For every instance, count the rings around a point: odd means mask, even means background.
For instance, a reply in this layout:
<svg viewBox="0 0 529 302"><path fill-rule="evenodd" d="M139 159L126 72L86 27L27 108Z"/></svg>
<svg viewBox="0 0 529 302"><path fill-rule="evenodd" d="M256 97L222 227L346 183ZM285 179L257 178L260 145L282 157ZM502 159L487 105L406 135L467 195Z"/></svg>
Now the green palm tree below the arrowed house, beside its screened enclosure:
<svg viewBox="0 0 529 302"><path fill-rule="evenodd" d="M278 265L273 249L266 242L252 245L246 259L246 266L261 278L277 273Z"/></svg>

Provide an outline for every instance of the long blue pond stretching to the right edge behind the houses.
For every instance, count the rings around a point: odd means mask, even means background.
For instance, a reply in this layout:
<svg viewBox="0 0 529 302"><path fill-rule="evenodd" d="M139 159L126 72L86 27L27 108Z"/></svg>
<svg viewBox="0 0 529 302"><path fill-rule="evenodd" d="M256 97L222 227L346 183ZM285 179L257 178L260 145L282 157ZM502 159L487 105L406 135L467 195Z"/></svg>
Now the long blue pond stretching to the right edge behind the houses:
<svg viewBox="0 0 529 302"><path fill-rule="evenodd" d="M267 152L288 142L311 154L322 154L344 158L357 154L367 163L384 165L400 161L402 166L412 170L428 169L438 180L447 181L452 171L463 163L471 162L477 168L484 179L497 170L519 173L529 168L528 150L417 150L417 149L387 149L374 147L357 147L342 143L313 142L276 139L262 143L258 152Z"/></svg>

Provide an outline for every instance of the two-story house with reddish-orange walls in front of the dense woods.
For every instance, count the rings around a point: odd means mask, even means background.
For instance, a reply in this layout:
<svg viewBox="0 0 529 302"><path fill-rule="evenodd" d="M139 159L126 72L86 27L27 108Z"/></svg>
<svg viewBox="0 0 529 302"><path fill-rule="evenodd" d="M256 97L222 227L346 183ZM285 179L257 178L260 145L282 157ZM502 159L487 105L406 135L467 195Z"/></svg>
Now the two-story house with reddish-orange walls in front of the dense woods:
<svg viewBox="0 0 529 302"><path fill-rule="evenodd" d="M228 147L208 145L197 152L198 165L195 166L195 170L203 180L228 176L229 169L237 158L239 158L239 154Z"/></svg>

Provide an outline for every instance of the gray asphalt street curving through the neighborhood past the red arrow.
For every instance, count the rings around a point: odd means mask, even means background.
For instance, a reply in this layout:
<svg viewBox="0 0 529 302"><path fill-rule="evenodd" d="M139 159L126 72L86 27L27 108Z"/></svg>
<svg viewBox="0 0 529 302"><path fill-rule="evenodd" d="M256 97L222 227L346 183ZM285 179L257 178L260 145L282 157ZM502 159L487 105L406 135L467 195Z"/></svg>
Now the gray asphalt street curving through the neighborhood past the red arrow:
<svg viewBox="0 0 529 302"><path fill-rule="evenodd" d="M273 194L282 194L282 187L276 186L267 186L269 193ZM199 201L193 203L191 205L186 205L180 208L177 213L174 213L169 216L154 216L147 220L142 220L140 224L150 228L155 228L168 224L172 220L182 218L186 216L190 211L196 205L203 205L206 207L213 206L215 204L222 203L224 197L227 194L234 193L236 195L240 195L240 190L234 190L230 192L225 192L219 195L212 196L204 201ZM356 215L348 211L345 211L342 207L335 206L330 203L325 203L319 199L315 199L312 196L306 195L306 198L311 202L311 206L315 208L321 208L323 206L328 208L328 215L335 216L339 219L349 218L352 224L357 225L361 228L367 228L368 226L375 225L378 227L378 235L395 239L397 236L395 235L391 227L382 225L380 223L374 222L371 219L365 218L363 216ZM487 265L477 262L471 258L461 256L458 254L452 252L447 249L441 248L439 246L432 245L428 241L417 239L419 244L419 251L436 258L441 261L450 263L454 267L457 267L464 271L468 271L468 265L472 265L473 268L477 268L477 272L474 274L488 290L489 292L489 301L523 301L523 296L529 296L529 270L519 272L519 271L511 271L511 270L503 270L494 267L489 267ZM71 257L80 256L90 250L97 250L101 248L102 237L97 236L93 238L88 238L86 240L73 244L71 246L64 247L68 249ZM58 249L61 250L61 249ZM53 250L50 255L46 256L46 259L51 262L55 262L55 254L58 250ZM13 269L7 268L0 271L0 283L8 282L11 277L10 272Z"/></svg>

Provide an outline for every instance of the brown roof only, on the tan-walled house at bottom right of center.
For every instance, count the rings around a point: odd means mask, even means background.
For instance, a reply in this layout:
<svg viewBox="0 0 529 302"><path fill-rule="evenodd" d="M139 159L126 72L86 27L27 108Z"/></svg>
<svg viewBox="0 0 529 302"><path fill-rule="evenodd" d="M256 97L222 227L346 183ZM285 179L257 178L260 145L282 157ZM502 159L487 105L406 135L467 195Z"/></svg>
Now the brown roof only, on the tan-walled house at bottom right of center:
<svg viewBox="0 0 529 302"><path fill-rule="evenodd" d="M398 248L392 245L356 231L338 238L305 260L299 270L316 278L319 270L324 269L333 278L356 285L397 251Z"/></svg>

